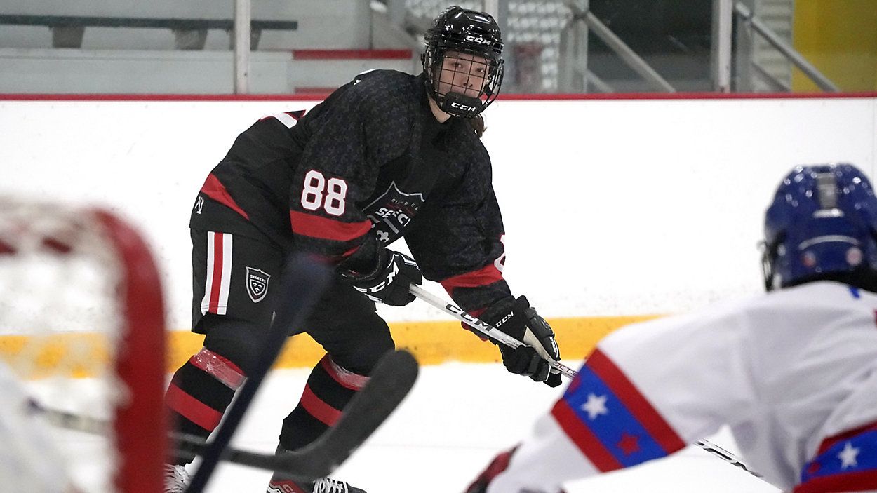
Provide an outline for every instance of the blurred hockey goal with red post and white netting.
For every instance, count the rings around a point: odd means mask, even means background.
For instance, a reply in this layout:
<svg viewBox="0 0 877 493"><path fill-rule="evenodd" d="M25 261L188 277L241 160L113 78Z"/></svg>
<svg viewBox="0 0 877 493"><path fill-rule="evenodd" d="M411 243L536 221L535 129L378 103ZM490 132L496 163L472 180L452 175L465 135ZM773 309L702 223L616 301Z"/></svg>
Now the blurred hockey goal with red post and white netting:
<svg viewBox="0 0 877 493"><path fill-rule="evenodd" d="M159 493L164 345L159 275L131 225L107 211L0 196L0 369L12 375L0 383L21 389L25 403L5 406L0 436L36 423L51 449L21 458L27 447L16 457L0 446L4 461L25 464L0 465L0 480L39 476L47 469L26 461L58 458L68 477L55 478L56 491L73 482L79 491Z"/></svg>

